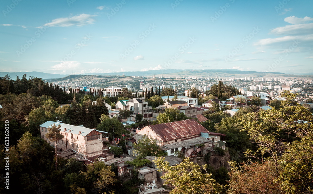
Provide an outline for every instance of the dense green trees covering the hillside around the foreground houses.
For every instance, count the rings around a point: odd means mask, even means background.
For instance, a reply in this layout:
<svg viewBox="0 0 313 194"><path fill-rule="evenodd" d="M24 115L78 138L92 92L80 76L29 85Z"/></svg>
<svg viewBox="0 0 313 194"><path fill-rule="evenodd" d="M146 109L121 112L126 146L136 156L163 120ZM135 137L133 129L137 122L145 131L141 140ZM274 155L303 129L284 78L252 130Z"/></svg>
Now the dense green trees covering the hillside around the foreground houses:
<svg viewBox="0 0 313 194"><path fill-rule="evenodd" d="M104 102L117 102L118 97L110 99L81 93L66 94L62 88L52 87L52 84L44 83L41 78L27 80L26 75L15 81L8 76L1 77L0 86L0 105L3 107L0 108L0 125L3 129L0 137L4 142L1 149L3 153L10 153L1 155L2 167L7 166L9 157L8 169L1 168L1 181L5 183L9 180L9 190L3 184L1 193L138 193L137 186L143 181L137 178L136 172L131 177L121 179L117 176L116 167L107 167L103 162L85 165L75 159L59 158L55 169L54 148L40 138L38 126L47 120L96 127L115 137L128 135L120 122L121 118L111 119L107 116ZM233 87L222 84L211 89L207 99L215 94L223 99L237 92ZM158 89L154 91L147 101L157 107L161 97ZM129 92L124 93L120 99L131 97ZM217 106L204 112L208 120L201 122L201 125L210 132L226 135L227 148L225 151L216 151L221 156L226 153L230 155L231 171L228 172L224 167L214 169L209 164L200 166L189 159L169 167L160 157L156 164L167 172L164 178L172 185L166 187L167 190L175 194L312 193L312 113L294 102L295 94L285 92L282 97L286 100L279 103L272 101L272 108L266 111L253 105L240 108L233 117ZM71 106L60 107L60 104ZM156 123L168 122L168 118L174 121L174 116L177 116L177 120L186 119L177 110L167 109L157 118ZM142 122L142 118L138 117L136 125L146 125ZM6 136L5 129L9 130L9 136ZM8 151L5 147L9 147ZM135 148L139 160L146 155L156 153L156 156L162 156L163 153L154 146L154 142L138 142ZM116 156L122 153L120 149L113 150ZM144 162L137 161L137 164ZM6 173L9 173L9 179Z"/></svg>

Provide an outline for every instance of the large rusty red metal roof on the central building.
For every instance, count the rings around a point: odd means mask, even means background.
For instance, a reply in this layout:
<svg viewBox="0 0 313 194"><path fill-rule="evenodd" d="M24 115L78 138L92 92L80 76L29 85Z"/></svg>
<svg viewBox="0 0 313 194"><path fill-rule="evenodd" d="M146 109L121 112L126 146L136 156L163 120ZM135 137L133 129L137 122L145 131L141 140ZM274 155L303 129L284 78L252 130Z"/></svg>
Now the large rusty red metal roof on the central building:
<svg viewBox="0 0 313 194"><path fill-rule="evenodd" d="M163 141L188 138L208 132L206 128L193 119L146 126L154 131ZM144 128L146 128L144 127Z"/></svg>

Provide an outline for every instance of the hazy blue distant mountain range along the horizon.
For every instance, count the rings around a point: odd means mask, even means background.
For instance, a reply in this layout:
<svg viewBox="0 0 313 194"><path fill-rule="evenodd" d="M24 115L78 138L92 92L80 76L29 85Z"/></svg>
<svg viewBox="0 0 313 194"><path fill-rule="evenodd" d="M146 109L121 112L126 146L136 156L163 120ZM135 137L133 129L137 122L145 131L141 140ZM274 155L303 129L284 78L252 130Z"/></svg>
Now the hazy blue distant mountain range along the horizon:
<svg viewBox="0 0 313 194"><path fill-rule="evenodd" d="M41 77L43 79L60 79L68 80L77 78L77 76L69 74L54 74L54 73L43 73L43 72L0 72L0 77L9 75L11 79L15 79L16 76L22 77L23 74L29 77ZM192 70L192 69L161 69L161 70L149 70L149 71L136 71L136 72L115 72L115 73L85 73L82 75L94 75L94 76L160 76L165 77L263 77L263 76L287 76L289 74L280 72L256 72L256 71L240 71L237 69L205 69L205 70ZM301 75L313 75L313 73L305 73ZM69 77L67 77L69 76ZM73 77L71 77L73 76ZM97 77L94 77L97 79Z"/></svg>

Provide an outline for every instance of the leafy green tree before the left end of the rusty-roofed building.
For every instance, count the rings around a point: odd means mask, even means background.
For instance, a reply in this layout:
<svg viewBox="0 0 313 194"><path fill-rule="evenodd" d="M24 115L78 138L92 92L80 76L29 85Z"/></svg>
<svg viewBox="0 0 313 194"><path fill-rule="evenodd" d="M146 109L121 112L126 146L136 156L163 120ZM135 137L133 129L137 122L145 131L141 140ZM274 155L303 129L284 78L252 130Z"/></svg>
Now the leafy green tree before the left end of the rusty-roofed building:
<svg viewBox="0 0 313 194"><path fill-rule="evenodd" d="M156 145L156 140L150 139L150 137L144 136L133 144L133 153L138 159L143 159L146 156L167 156L160 147Z"/></svg>

